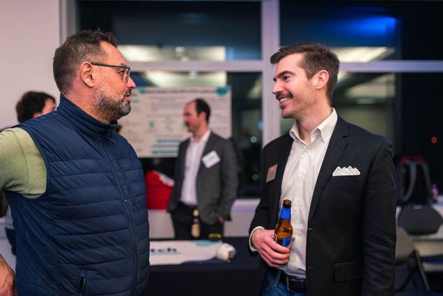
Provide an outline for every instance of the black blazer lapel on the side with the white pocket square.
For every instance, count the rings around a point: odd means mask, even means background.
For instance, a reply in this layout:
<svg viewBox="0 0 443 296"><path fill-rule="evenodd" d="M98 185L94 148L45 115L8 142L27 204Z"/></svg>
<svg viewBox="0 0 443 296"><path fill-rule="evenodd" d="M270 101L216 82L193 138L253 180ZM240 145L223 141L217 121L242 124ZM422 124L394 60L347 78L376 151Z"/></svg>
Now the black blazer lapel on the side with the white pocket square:
<svg viewBox="0 0 443 296"><path fill-rule="evenodd" d="M334 128L334 132L332 132L331 140L327 146L320 172L318 173L316 187L314 187L314 192L312 195L311 208L309 209L308 221L311 221L311 217L316 211L323 189L329 181L329 178L331 178L332 173L334 173L343 151L345 150L346 146L348 146L348 134L348 123L346 123L345 120L339 116Z"/></svg>

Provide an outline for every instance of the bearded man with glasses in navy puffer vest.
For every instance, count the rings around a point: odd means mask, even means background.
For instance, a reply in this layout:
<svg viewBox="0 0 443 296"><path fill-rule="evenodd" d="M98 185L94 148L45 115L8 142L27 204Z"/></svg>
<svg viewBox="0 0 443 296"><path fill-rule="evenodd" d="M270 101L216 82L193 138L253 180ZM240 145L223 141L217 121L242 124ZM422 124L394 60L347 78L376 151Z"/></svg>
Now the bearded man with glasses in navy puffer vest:
<svg viewBox="0 0 443 296"><path fill-rule="evenodd" d="M17 231L17 275L0 256L0 295L139 296L148 281L146 187L114 132L135 87L110 33L56 49L56 111L0 134L0 188Z"/></svg>

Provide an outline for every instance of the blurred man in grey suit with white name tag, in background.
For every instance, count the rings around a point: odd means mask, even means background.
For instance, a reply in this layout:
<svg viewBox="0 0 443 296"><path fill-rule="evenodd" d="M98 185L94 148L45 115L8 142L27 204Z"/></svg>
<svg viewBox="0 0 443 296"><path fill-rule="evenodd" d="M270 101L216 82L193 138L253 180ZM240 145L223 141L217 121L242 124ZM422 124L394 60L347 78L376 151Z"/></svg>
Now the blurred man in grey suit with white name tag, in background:
<svg viewBox="0 0 443 296"><path fill-rule="evenodd" d="M169 200L176 239L207 239L223 235L237 195L237 157L233 143L211 132L210 107L196 99L185 106L183 120L192 137L180 143L175 184ZM200 233L192 235L194 210L199 212Z"/></svg>

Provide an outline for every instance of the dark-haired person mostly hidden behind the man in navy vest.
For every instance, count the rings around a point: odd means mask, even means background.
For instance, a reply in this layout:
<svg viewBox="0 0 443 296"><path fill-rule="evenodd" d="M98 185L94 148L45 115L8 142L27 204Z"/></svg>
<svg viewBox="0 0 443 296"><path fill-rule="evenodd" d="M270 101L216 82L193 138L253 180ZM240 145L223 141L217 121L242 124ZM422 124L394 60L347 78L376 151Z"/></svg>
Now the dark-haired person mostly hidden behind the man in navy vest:
<svg viewBox="0 0 443 296"><path fill-rule="evenodd" d="M20 101L15 105L15 111L17 111L17 120L19 123L23 123L31 118L48 114L54 111L55 107L56 100L52 95L37 91L28 91L22 95ZM11 216L9 207L5 215L5 231L11 246L11 252L15 255L17 244L15 243L13 217Z"/></svg>

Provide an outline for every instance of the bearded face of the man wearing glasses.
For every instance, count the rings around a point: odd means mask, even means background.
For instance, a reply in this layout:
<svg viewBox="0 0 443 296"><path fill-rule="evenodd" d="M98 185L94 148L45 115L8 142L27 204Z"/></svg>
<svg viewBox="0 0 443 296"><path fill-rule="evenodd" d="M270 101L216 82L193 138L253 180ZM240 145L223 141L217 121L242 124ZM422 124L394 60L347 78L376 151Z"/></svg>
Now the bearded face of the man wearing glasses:
<svg viewBox="0 0 443 296"><path fill-rule="evenodd" d="M100 63L109 65L126 65L121 52L107 42L101 42L106 55ZM94 93L93 104L95 112L104 122L121 118L131 111L131 91L135 88L134 81L129 77L126 81L127 70L96 65L100 68L100 86Z"/></svg>

